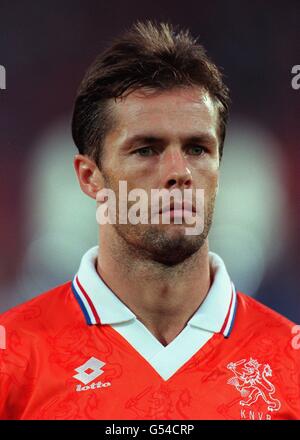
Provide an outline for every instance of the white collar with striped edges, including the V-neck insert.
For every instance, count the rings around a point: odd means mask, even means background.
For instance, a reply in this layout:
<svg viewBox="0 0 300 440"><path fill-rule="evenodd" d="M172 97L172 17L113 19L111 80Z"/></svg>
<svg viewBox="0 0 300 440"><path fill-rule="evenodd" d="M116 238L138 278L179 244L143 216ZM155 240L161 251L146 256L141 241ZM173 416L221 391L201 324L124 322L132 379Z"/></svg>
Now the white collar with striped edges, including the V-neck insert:
<svg viewBox="0 0 300 440"><path fill-rule="evenodd" d="M82 258L72 289L88 324L109 324L167 381L216 334L229 337L237 297L225 265L209 253L213 283L184 329L164 346L109 289L96 271L98 246Z"/></svg>

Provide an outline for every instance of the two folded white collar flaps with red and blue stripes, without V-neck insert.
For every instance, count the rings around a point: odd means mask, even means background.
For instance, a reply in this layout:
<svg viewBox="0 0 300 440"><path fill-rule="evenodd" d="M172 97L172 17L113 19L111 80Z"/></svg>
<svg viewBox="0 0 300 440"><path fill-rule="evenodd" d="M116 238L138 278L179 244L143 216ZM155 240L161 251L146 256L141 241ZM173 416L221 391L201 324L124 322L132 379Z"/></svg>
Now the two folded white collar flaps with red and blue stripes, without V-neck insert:
<svg viewBox="0 0 300 440"><path fill-rule="evenodd" d="M72 290L89 325L120 324L136 320L136 315L110 290L96 271L98 246L82 257ZM223 260L209 252L213 282L208 294L187 325L230 335L236 310L236 291Z"/></svg>

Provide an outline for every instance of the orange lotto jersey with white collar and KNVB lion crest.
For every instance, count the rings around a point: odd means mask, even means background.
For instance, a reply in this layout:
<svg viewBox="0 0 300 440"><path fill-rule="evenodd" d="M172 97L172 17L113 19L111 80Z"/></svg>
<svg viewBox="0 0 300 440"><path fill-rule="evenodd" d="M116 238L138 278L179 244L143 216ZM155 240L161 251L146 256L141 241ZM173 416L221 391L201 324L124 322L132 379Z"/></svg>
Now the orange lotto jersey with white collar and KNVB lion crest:
<svg viewBox="0 0 300 440"><path fill-rule="evenodd" d="M163 346L95 269L1 316L1 419L300 419L293 323L238 292L210 253L213 283Z"/></svg>

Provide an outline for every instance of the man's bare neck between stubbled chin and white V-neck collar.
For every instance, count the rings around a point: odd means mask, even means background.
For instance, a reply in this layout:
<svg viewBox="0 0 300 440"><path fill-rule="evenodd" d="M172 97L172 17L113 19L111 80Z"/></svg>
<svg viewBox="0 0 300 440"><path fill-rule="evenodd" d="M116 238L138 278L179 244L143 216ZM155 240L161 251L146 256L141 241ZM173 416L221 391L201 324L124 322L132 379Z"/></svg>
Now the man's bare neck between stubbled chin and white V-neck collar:
<svg viewBox="0 0 300 440"><path fill-rule="evenodd" d="M98 274L161 344L169 344L210 288L207 240L182 263L165 266L138 258L136 252L112 235L101 237Z"/></svg>

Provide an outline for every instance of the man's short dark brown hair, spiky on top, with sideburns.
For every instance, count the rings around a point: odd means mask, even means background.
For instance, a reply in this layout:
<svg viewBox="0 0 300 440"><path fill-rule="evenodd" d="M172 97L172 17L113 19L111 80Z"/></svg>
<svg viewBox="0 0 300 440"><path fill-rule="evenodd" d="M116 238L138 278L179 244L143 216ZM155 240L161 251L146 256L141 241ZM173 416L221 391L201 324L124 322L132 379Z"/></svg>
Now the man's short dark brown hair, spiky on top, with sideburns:
<svg viewBox="0 0 300 440"><path fill-rule="evenodd" d="M207 90L218 104L221 158L229 90L220 70L188 30L138 21L95 59L79 86L72 119L79 152L100 165L104 138L113 128L111 98L143 87L169 90L195 85Z"/></svg>

